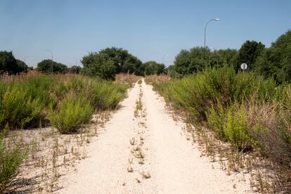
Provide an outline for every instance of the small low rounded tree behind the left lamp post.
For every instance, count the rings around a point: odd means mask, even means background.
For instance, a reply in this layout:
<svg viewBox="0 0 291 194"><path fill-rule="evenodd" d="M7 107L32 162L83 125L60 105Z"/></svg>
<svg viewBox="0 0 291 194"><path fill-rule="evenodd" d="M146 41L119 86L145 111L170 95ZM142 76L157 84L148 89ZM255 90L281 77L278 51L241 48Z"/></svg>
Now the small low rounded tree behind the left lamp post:
<svg viewBox="0 0 291 194"><path fill-rule="evenodd" d="M64 65L63 63L57 63L51 59L45 59L39 62L37 64L37 70L45 74L51 73L51 65L53 66L53 73L65 74L68 72L67 65Z"/></svg>

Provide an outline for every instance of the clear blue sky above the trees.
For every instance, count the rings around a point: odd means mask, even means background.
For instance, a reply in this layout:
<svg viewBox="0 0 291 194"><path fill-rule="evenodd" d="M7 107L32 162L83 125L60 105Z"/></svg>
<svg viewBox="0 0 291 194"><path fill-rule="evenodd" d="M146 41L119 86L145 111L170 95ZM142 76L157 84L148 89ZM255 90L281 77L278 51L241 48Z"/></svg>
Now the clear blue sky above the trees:
<svg viewBox="0 0 291 194"><path fill-rule="evenodd" d="M181 49L204 44L240 48L248 39L270 46L291 28L290 0L0 0L0 50L36 66L46 58L81 65L90 51L127 49L143 62L170 65Z"/></svg>

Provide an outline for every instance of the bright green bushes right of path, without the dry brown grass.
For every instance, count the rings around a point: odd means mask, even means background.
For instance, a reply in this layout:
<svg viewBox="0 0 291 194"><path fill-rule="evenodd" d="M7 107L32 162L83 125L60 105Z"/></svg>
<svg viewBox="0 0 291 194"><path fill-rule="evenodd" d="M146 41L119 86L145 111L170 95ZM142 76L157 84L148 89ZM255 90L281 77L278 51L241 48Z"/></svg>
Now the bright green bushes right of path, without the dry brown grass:
<svg viewBox="0 0 291 194"><path fill-rule="evenodd" d="M226 66L153 85L174 108L188 112L192 122L207 124L217 138L230 141L239 150L250 150L258 141L254 141L258 126L248 124L245 104L286 98L280 95L283 89L273 79L253 72L235 72Z"/></svg>

